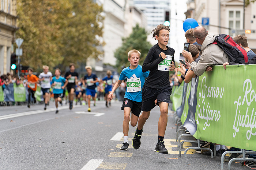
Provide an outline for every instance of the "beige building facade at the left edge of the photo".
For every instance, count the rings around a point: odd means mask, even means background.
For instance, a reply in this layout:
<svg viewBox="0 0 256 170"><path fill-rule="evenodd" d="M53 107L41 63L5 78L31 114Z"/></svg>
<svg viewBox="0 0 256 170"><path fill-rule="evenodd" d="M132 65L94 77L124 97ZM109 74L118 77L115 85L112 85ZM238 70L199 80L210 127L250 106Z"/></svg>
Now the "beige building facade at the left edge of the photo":
<svg viewBox="0 0 256 170"><path fill-rule="evenodd" d="M11 53L15 41L16 0L0 0L0 72L10 72Z"/></svg>

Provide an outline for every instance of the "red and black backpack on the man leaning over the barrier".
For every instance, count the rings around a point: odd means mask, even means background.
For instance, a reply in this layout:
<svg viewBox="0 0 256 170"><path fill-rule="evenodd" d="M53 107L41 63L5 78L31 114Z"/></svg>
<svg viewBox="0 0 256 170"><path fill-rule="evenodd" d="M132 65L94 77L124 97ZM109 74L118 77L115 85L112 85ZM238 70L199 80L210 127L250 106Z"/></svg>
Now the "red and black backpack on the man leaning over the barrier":
<svg viewBox="0 0 256 170"><path fill-rule="evenodd" d="M230 62L242 64L248 62L247 53L239 46L231 36L227 34L219 34L211 44L217 44L226 52Z"/></svg>

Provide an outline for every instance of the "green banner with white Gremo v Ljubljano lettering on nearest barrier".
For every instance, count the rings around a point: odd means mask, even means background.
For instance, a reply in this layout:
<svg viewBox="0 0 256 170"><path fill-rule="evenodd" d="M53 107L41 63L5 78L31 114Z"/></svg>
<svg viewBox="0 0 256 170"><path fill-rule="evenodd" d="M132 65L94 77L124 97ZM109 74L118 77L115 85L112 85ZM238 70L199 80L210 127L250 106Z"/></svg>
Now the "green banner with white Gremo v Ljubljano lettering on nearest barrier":
<svg viewBox="0 0 256 170"><path fill-rule="evenodd" d="M194 137L256 150L255 78L255 65L214 66L199 76Z"/></svg>

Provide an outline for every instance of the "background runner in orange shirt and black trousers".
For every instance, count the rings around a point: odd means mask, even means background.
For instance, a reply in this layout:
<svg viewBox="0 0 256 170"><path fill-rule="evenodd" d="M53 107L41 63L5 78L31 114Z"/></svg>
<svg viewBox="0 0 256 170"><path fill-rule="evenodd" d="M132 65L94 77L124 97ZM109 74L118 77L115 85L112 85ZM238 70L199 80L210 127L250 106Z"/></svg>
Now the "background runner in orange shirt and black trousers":
<svg viewBox="0 0 256 170"><path fill-rule="evenodd" d="M37 83L38 83L38 78L36 75L32 74L33 70L32 68L28 68L28 75L27 75L27 87L28 87L28 92L29 92L29 97L28 97L28 103L27 103L27 107L30 107L30 96L32 94L32 98L34 99L34 103L36 102L35 100L35 91L37 90Z"/></svg>

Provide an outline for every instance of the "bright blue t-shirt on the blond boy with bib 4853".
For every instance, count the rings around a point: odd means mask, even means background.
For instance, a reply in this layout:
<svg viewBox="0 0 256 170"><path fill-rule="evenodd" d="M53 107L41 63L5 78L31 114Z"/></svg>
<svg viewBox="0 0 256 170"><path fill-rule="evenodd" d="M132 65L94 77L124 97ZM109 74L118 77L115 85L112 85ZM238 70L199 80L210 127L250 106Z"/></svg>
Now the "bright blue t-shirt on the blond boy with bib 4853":
<svg viewBox="0 0 256 170"><path fill-rule="evenodd" d="M144 85L145 79L149 74L149 71L142 72L142 66L140 65L138 65L138 67L135 68L134 70L130 69L129 67L124 68L119 76L119 80L124 80L125 78L128 78L128 79L136 78L133 76L134 74L137 78L140 78L140 83L142 88ZM130 99L135 102L141 102L142 101L141 91L127 92L127 88L126 88L124 98Z"/></svg>

